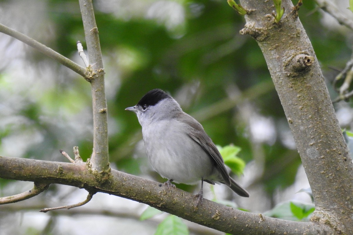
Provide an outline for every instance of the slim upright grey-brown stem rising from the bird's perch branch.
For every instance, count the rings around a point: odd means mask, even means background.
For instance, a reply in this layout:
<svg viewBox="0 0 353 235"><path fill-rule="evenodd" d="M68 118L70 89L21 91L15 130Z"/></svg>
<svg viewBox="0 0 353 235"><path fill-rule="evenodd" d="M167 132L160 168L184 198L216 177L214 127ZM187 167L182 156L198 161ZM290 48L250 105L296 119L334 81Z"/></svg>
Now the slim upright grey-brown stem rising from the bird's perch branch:
<svg viewBox="0 0 353 235"><path fill-rule="evenodd" d="M104 68L98 28L93 12L92 0L79 0L91 77L86 78L91 83L93 107L93 152L90 164L97 177L104 180L109 174L108 158L108 108L104 86Z"/></svg>

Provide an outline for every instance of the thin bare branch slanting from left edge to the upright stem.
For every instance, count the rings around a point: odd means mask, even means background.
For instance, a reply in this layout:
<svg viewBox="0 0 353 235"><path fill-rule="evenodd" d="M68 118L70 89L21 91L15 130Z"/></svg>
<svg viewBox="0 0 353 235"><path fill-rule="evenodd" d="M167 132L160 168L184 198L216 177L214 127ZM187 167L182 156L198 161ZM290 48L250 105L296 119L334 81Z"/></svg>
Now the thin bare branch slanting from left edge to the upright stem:
<svg viewBox="0 0 353 235"><path fill-rule="evenodd" d="M84 67L79 66L75 62L71 61L70 59L66 58L65 56L59 54L58 52L54 51L53 49L50 49L46 45L43 45L40 42L37 42L33 38L30 38L23 33L20 33L16 30L13 30L3 24L0 24L0 32L5 33L11 37L14 37L18 39L21 42L24 42L31 47L37 49L38 51L42 52L44 55L49 56L50 58L58 61L62 65L66 66L67 68L73 70L74 72L78 73L79 75L83 76L86 78L86 69Z"/></svg>

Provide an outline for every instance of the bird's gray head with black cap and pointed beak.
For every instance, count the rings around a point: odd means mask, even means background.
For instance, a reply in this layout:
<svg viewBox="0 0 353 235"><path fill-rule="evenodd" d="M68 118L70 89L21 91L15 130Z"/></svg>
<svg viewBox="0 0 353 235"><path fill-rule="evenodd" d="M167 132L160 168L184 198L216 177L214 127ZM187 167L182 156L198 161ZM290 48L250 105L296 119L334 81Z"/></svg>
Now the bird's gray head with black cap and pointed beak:
<svg viewBox="0 0 353 235"><path fill-rule="evenodd" d="M162 119L172 118L183 112L180 105L170 95L161 89L147 92L137 105L125 110L135 112L141 126Z"/></svg>

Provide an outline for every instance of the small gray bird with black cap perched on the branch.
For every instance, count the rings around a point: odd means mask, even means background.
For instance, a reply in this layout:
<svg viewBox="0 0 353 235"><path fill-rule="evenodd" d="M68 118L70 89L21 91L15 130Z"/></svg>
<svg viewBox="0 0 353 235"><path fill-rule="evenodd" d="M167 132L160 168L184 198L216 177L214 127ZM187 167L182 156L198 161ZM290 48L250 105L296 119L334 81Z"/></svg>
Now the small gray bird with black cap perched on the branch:
<svg viewBox="0 0 353 235"><path fill-rule="evenodd" d="M148 159L155 171L168 179L166 184L196 184L201 180L198 203L202 203L203 181L213 185L217 181L242 197L250 196L229 176L221 154L202 125L183 112L170 95L154 89L125 110L136 113Z"/></svg>

